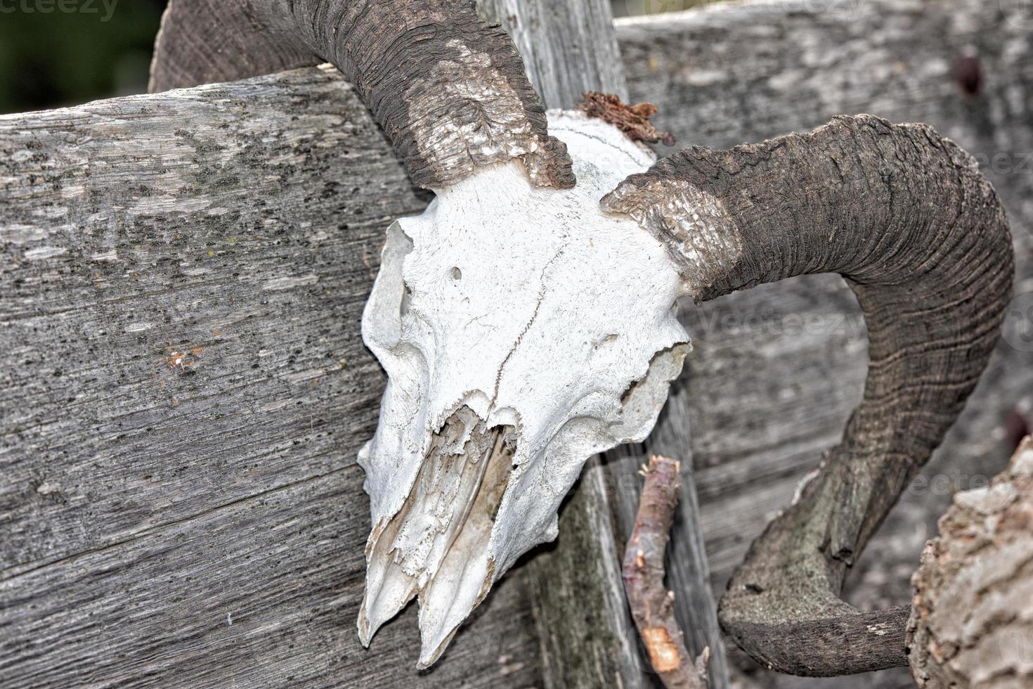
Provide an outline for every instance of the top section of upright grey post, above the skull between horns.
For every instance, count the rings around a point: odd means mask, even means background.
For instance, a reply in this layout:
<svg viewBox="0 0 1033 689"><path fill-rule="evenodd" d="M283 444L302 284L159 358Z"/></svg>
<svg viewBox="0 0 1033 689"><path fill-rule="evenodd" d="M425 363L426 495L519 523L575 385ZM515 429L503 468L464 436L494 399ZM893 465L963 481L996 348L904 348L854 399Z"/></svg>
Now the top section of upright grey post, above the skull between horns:
<svg viewBox="0 0 1033 689"><path fill-rule="evenodd" d="M545 107L575 107L585 91L627 97L607 0L478 0L477 6L512 36Z"/></svg>

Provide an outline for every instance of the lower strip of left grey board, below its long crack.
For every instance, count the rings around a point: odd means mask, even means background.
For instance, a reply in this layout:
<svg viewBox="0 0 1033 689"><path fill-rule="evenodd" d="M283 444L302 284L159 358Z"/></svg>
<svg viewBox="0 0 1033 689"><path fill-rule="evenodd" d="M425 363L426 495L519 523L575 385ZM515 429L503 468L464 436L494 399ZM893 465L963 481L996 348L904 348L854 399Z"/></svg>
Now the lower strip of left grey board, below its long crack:
<svg viewBox="0 0 1033 689"><path fill-rule="evenodd" d="M3 685L536 684L514 577L430 672L414 668L414 607L358 645L361 484L352 464L5 578Z"/></svg>

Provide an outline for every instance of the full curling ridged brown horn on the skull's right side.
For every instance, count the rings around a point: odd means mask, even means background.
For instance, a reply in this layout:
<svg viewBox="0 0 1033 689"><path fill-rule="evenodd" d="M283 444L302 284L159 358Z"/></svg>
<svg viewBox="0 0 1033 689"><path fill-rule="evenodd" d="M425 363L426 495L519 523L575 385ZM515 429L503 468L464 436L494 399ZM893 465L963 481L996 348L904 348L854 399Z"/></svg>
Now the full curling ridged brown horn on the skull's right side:
<svg viewBox="0 0 1033 689"><path fill-rule="evenodd" d="M666 245L696 301L794 275L846 279L869 328L864 401L754 541L720 618L782 672L906 664L909 606L859 612L840 592L993 351L1014 259L990 183L928 126L841 117L757 146L684 150L602 206Z"/></svg>

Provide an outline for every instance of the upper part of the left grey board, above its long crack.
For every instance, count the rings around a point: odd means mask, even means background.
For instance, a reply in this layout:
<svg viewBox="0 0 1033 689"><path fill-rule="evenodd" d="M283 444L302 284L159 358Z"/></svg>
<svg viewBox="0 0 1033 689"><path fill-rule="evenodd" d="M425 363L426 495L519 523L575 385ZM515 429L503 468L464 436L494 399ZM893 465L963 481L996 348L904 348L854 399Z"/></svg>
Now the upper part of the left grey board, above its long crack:
<svg viewBox="0 0 1033 689"><path fill-rule="evenodd" d="M371 433L357 319L381 227L420 201L340 80L294 79L0 120L5 571L326 473Z"/></svg>

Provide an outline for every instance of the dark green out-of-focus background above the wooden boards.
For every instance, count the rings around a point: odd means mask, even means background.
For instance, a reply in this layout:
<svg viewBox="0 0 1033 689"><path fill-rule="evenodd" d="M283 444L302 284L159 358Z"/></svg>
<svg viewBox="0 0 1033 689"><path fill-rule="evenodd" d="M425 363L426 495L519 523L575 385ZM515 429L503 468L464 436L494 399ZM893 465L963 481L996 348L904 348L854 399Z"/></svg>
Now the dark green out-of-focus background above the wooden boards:
<svg viewBox="0 0 1033 689"><path fill-rule="evenodd" d="M703 0L614 0L614 15L677 11ZM95 0L84 13L0 9L0 114L143 93L167 0ZM9 11L14 9L14 11Z"/></svg>

